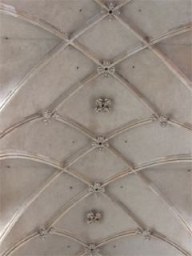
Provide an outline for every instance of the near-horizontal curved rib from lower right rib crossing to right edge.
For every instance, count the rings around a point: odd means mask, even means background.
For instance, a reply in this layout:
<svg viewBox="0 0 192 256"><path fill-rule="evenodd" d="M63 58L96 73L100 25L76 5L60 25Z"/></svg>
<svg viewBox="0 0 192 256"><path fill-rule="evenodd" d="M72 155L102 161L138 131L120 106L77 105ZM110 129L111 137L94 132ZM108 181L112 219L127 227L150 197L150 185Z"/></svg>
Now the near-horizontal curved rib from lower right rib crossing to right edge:
<svg viewBox="0 0 192 256"><path fill-rule="evenodd" d="M162 158L155 158L153 160L134 165L134 171L145 170L150 167L161 166L174 162L192 162L192 154L175 154Z"/></svg>

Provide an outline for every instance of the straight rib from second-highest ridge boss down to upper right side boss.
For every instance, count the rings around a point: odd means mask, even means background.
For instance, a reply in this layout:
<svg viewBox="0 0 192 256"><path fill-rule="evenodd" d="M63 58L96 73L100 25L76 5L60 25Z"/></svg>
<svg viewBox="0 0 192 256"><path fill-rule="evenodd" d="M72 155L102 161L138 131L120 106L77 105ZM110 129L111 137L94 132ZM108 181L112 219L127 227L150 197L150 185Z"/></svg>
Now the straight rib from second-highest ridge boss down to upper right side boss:
<svg viewBox="0 0 192 256"><path fill-rule="evenodd" d="M141 92L139 92L130 82L126 80L126 78L123 78L121 74L118 74L118 72L115 72L114 74L111 73L111 75L118 80L123 86L126 87L130 91L131 94L133 94L148 110L150 110L151 113L155 114L157 117L161 115L161 112L154 106Z"/></svg>

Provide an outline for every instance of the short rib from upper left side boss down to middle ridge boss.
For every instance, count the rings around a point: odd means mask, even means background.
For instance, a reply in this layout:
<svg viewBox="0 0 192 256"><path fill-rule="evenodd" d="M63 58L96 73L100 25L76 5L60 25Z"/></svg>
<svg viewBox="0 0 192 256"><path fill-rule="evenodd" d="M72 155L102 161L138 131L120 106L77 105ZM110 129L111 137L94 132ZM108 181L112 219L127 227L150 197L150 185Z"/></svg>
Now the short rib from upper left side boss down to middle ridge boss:
<svg viewBox="0 0 192 256"><path fill-rule="evenodd" d="M85 134L87 137L89 137L91 139L95 138L95 135L91 130L87 129L85 126L82 126L82 124L80 124L79 122L74 121L71 118L62 117L61 115L58 114L58 116L55 119L58 122L65 123L66 125L74 128L75 130L80 131L82 134Z"/></svg>

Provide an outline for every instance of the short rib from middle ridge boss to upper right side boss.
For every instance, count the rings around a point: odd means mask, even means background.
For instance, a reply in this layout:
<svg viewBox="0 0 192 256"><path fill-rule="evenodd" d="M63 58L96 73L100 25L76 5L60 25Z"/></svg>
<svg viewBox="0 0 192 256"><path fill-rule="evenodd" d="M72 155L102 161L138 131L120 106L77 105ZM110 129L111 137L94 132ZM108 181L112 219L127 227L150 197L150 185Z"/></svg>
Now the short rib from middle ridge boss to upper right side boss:
<svg viewBox="0 0 192 256"><path fill-rule="evenodd" d="M127 130L133 129L134 127L142 126L147 123L152 122L151 118L140 118L135 119L134 121L127 122L126 124L119 126L118 128L115 128L114 130L111 130L109 133L106 134L106 138L111 139L119 134L122 134L126 132Z"/></svg>

